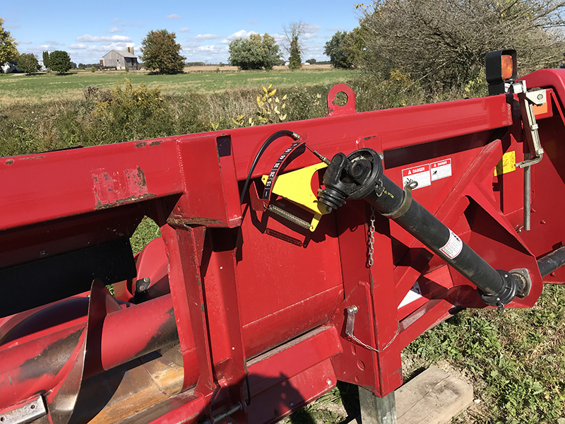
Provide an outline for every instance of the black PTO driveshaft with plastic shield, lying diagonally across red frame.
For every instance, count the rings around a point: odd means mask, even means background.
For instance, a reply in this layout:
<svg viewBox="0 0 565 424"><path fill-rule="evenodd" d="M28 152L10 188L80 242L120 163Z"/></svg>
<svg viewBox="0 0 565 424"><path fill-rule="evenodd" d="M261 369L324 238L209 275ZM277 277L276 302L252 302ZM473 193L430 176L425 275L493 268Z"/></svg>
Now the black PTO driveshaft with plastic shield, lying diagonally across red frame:
<svg viewBox="0 0 565 424"><path fill-rule="evenodd" d="M411 235L453 266L477 286L487 305L503 308L516 295L523 297L527 282L509 271L492 268L482 257L441 223L424 206L412 199L405 189L383 175L381 157L370 148L362 148L349 156L335 155L323 177L326 188L319 191L319 201L329 208L338 208L345 199L364 199L382 216L395 220Z"/></svg>

